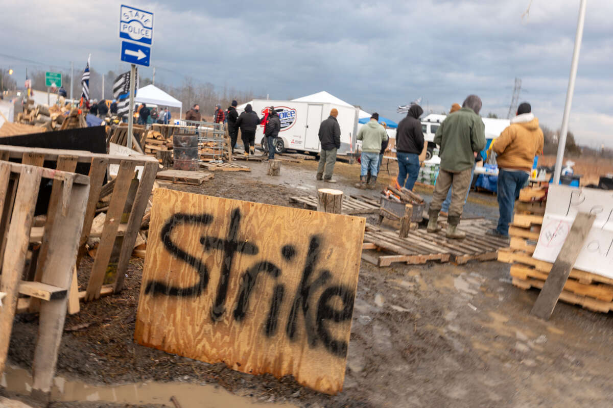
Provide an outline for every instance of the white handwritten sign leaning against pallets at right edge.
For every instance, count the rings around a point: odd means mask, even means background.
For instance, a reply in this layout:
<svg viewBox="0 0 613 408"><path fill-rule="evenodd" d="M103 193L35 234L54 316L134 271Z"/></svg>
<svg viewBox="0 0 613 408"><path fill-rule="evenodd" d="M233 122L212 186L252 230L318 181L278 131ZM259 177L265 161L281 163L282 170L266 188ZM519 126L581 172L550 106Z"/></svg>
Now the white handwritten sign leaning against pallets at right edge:
<svg viewBox="0 0 613 408"><path fill-rule="evenodd" d="M574 267L613 278L613 191L550 185L533 257L554 262L577 213L596 215Z"/></svg>

